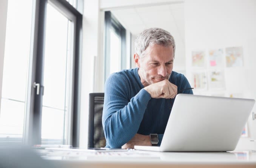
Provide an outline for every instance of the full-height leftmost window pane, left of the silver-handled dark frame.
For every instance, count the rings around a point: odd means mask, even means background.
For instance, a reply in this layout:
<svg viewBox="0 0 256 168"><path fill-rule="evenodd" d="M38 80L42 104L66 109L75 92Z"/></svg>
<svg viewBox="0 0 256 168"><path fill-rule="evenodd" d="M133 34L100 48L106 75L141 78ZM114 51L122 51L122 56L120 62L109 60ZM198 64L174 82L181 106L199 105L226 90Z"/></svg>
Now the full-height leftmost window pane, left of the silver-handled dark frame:
<svg viewBox="0 0 256 168"><path fill-rule="evenodd" d="M1 137L23 137L32 2L8 1L0 112Z"/></svg>

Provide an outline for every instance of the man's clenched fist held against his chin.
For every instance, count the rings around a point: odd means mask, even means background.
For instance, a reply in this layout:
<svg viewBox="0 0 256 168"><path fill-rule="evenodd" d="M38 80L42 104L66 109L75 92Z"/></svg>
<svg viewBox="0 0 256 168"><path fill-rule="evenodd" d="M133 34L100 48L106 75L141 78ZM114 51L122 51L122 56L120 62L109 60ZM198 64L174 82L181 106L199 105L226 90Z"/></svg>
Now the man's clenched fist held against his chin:
<svg viewBox="0 0 256 168"><path fill-rule="evenodd" d="M151 98L173 99L177 95L177 86L167 79L144 87L144 89L150 93Z"/></svg>

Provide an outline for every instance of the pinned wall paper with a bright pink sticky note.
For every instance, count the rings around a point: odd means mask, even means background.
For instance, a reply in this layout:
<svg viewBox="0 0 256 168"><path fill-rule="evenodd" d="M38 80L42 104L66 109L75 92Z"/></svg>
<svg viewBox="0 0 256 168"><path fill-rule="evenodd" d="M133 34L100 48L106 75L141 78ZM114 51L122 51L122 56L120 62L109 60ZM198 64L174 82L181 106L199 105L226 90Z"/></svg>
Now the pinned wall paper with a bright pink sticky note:
<svg viewBox="0 0 256 168"><path fill-rule="evenodd" d="M223 67L224 66L223 49L209 50L209 66L210 67Z"/></svg>

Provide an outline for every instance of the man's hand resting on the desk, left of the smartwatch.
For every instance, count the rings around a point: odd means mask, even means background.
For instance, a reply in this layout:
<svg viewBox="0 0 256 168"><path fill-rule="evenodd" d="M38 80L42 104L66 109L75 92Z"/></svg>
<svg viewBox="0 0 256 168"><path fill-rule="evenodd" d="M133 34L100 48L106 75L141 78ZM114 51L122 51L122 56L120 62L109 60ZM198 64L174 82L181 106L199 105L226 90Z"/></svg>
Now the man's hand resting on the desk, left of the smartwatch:
<svg viewBox="0 0 256 168"><path fill-rule="evenodd" d="M122 146L122 149L134 148L134 145L151 146L150 136L135 134L135 136L126 144Z"/></svg>

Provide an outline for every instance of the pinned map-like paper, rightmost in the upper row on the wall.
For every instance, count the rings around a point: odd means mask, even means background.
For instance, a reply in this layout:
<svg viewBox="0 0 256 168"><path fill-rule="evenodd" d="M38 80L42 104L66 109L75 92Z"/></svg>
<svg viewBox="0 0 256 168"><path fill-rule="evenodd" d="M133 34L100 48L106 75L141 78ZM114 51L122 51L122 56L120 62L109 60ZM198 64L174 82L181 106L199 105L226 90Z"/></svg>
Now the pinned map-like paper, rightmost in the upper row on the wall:
<svg viewBox="0 0 256 168"><path fill-rule="evenodd" d="M226 48L226 65L227 67L243 66L242 47Z"/></svg>

